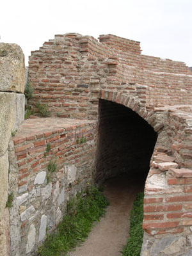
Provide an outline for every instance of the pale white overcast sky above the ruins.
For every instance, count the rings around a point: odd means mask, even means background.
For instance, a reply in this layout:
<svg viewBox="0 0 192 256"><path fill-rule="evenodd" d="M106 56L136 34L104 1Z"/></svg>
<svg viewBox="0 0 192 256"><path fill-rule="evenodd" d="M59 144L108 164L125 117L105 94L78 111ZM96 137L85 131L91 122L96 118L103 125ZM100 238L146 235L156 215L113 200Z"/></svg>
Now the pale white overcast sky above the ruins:
<svg viewBox="0 0 192 256"><path fill-rule="evenodd" d="M3 0L0 42L26 57L56 34L113 34L141 42L142 54L192 66L192 0Z"/></svg>

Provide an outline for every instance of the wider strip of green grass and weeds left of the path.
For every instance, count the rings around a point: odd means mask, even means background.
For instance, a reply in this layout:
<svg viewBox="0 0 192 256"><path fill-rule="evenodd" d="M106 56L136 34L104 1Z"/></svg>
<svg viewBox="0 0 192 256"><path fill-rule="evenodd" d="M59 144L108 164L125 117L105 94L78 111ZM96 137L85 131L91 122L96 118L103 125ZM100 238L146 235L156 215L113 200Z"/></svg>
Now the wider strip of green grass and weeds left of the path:
<svg viewBox="0 0 192 256"><path fill-rule="evenodd" d="M84 241L93 221L99 221L107 205L108 201L96 186L72 198L67 204L67 215L60 223L58 231L47 236L38 255L67 255L67 252Z"/></svg>

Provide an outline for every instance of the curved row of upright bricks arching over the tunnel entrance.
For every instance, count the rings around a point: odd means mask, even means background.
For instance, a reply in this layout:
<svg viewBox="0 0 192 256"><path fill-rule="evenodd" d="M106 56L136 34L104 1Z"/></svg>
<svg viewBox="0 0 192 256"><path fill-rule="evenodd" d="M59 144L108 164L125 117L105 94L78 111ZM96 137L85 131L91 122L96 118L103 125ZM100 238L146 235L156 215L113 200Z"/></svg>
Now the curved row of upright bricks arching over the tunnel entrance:
<svg viewBox="0 0 192 256"><path fill-rule="evenodd" d="M141 118L154 128L157 133L164 127L163 123L157 122L156 114L154 111L148 111L146 108L141 107L140 101L130 97L129 95L122 92L114 92L110 90L100 90L99 99L109 100L122 104L127 108L132 109Z"/></svg>

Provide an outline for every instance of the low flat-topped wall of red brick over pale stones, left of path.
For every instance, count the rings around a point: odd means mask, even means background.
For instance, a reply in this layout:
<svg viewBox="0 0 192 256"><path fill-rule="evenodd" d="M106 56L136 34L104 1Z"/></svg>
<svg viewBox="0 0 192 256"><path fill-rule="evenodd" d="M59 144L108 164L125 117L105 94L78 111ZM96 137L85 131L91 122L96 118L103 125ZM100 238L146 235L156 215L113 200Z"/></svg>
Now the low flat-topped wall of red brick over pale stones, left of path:
<svg viewBox="0 0 192 256"><path fill-rule="evenodd" d="M92 184L95 128L93 121L37 118L10 140L10 255L36 252L60 223L70 196Z"/></svg>

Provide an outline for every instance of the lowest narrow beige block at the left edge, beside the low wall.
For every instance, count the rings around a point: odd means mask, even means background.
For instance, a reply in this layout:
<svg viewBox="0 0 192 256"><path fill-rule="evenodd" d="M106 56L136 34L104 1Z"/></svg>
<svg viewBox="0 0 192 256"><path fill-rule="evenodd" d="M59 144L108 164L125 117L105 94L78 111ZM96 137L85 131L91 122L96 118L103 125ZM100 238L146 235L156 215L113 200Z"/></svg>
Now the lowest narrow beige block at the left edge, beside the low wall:
<svg viewBox="0 0 192 256"><path fill-rule="evenodd" d="M6 201L8 198L8 152L0 157L0 221L3 218Z"/></svg>

